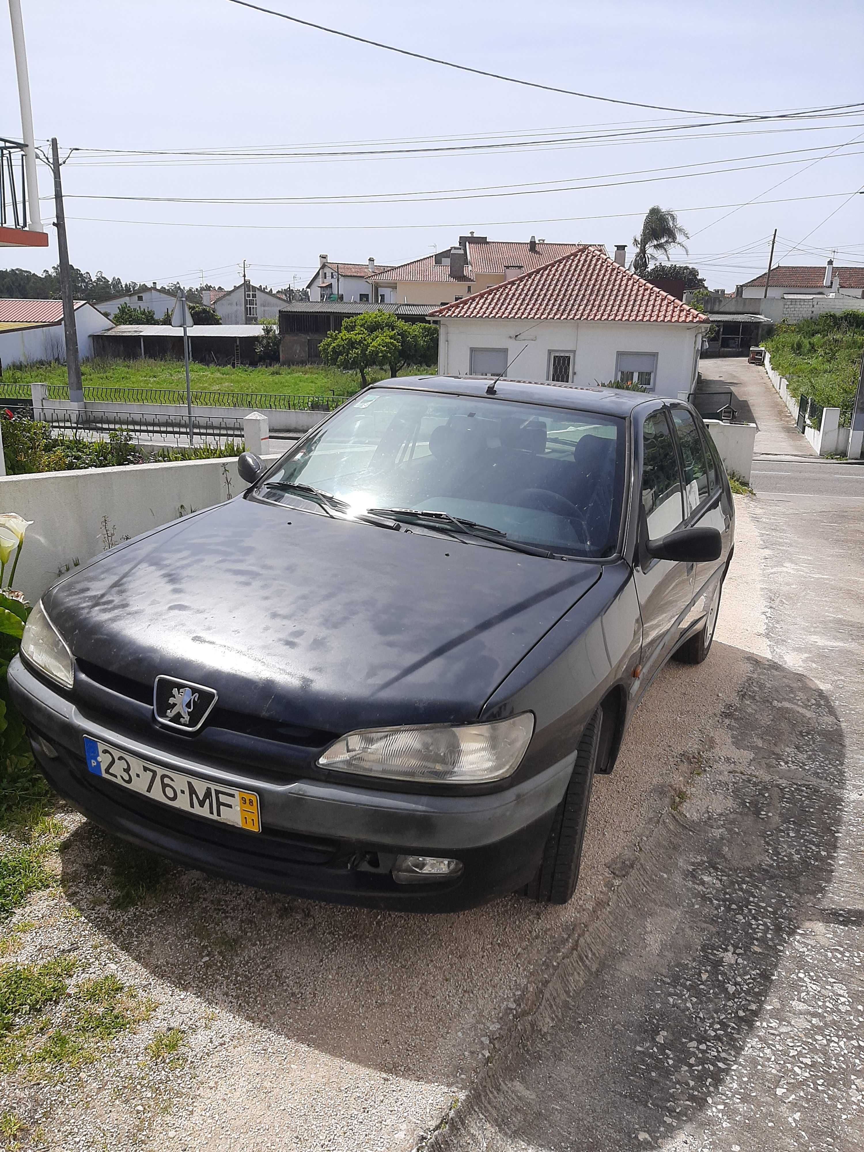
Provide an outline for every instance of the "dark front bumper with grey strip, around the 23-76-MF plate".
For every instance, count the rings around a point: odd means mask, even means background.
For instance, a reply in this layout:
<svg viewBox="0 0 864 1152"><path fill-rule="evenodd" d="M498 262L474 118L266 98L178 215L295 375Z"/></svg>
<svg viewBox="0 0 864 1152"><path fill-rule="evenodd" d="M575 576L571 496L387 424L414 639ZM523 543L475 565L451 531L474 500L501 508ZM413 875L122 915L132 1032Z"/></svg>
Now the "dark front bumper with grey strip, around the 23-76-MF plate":
<svg viewBox="0 0 864 1152"><path fill-rule="evenodd" d="M85 816L179 863L314 900L453 911L515 890L539 866L573 770L573 757L568 757L531 780L486 796L378 791L309 779L279 783L244 774L241 766L226 771L198 760L194 745L182 756L156 751L141 738L91 721L18 658L8 676L46 779ZM85 767L84 735L167 770L257 791L262 832L177 813L92 775ZM53 745L55 757L46 753L39 737ZM452 880L396 884L386 866L396 852L455 857L464 871Z"/></svg>

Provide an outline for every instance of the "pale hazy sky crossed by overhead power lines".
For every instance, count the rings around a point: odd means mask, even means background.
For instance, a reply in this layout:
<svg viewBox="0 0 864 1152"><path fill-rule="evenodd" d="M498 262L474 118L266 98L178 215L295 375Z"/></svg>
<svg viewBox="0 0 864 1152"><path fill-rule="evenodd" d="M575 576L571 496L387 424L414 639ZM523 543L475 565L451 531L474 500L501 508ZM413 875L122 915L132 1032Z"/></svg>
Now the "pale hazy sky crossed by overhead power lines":
<svg viewBox="0 0 864 1152"><path fill-rule="evenodd" d="M475 68L698 113L864 100L861 0L259 2ZM18 137L5 8L0 135ZM69 255L91 273L230 287L245 259L253 281L300 287L320 253L399 264L470 230L627 242L629 260L652 204L679 213L689 256L672 259L710 287L764 271L774 228L775 265L834 252L864 264L864 107L721 127L456 71L229 0L22 9L37 142L76 150L62 172ZM243 203L268 197L295 203ZM47 250L0 249L0 266L55 264L50 233Z"/></svg>

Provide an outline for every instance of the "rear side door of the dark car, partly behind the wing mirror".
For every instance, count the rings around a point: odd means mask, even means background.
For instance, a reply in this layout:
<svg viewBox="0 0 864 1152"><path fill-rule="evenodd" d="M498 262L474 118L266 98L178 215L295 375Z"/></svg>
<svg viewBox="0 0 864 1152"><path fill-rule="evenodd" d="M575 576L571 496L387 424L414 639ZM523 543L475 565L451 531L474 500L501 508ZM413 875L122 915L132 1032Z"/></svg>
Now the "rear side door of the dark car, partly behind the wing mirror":
<svg viewBox="0 0 864 1152"><path fill-rule="evenodd" d="M688 528L715 528L726 537L729 517L722 507L720 476L713 454L707 448L697 418L683 406L672 406L672 420L681 452L684 478L684 523ZM707 435L707 433L704 433ZM707 612L722 575L725 559L692 564L692 606L687 624Z"/></svg>

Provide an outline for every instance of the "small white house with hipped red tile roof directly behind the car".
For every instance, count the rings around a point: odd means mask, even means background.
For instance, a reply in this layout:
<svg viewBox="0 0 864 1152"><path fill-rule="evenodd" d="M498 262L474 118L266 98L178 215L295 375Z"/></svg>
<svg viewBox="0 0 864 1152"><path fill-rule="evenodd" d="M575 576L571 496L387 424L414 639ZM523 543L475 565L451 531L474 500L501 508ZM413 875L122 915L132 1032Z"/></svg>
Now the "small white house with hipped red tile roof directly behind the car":
<svg viewBox="0 0 864 1152"><path fill-rule="evenodd" d="M632 381L690 392L702 312L628 272L596 244L430 313L439 372L591 387Z"/></svg>

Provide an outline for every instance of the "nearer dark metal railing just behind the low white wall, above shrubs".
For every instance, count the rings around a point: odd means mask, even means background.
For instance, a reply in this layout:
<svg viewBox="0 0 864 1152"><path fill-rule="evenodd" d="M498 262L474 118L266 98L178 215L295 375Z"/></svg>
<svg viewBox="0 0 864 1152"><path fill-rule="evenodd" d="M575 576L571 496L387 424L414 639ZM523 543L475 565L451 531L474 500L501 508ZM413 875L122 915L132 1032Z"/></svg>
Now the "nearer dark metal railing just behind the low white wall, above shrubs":
<svg viewBox="0 0 864 1152"><path fill-rule="evenodd" d="M112 432L128 432L137 442L166 447L189 444L189 420L185 416L142 415L141 412L65 411L46 412L40 423L54 435L105 439ZM220 445L243 441L243 420L236 417L192 416L196 444Z"/></svg>

